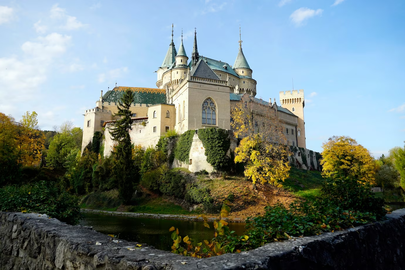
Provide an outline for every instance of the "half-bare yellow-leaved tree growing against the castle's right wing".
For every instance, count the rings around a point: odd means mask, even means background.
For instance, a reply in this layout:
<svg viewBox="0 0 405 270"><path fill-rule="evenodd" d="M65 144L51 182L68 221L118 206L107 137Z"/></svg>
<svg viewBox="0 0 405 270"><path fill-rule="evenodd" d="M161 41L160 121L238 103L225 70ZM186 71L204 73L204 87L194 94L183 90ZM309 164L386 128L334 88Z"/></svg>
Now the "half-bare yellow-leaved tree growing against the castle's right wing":
<svg viewBox="0 0 405 270"><path fill-rule="evenodd" d="M290 151L275 109L245 94L232 106L231 117L234 135L242 138L235 149L235 162L246 164L245 176L253 184L281 186L289 176Z"/></svg>

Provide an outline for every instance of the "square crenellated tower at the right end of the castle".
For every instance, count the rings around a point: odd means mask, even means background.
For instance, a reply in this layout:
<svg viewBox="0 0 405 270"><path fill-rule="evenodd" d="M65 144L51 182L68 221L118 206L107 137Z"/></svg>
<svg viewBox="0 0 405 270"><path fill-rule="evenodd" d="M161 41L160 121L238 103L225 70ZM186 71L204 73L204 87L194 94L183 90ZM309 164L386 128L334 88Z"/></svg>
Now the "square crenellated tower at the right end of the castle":
<svg viewBox="0 0 405 270"><path fill-rule="evenodd" d="M307 148L305 143L305 121L304 121L304 90L280 91L281 107L288 109L298 116L296 127L297 146Z"/></svg>

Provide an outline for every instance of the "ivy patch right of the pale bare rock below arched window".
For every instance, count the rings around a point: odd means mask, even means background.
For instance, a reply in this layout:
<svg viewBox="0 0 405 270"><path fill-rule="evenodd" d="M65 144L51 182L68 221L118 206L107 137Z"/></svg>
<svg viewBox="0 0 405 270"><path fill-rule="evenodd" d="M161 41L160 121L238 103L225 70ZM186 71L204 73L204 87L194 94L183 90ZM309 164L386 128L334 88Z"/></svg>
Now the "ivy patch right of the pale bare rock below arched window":
<svg viewBox="0 0 405 270"><path fill-rule="evenodd" d="M230 147L228 132L219 128L204 128L198 130L198 138L203 142L207 162L215 170L224 170L229 165L226 155Z"/></svg>

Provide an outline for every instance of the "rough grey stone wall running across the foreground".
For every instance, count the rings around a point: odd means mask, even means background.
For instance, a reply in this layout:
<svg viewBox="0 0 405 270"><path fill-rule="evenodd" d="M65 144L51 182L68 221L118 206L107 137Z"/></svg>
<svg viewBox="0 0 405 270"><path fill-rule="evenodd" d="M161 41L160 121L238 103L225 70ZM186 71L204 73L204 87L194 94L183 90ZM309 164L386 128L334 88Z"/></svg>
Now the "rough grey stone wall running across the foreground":
<svg viewBox="0 0 405 270"><path fill-rule="evenodd" d="M38 214L0 212L0 269L405 269L405 209L387 218L248 252L197 259L145 244L135 249L136 242L115 243L107 235Z"/></svg>

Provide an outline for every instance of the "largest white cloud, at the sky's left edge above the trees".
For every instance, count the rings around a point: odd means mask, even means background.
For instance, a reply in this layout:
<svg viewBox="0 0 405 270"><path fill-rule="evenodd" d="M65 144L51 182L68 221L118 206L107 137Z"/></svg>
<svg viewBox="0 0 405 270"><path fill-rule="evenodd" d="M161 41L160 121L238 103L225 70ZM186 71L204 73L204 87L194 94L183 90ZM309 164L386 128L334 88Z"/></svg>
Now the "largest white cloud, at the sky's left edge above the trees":
<svg viewBox="0 0 405 270"><path fill-rule="evenodd" d="M66 52L69 43L70 36L52 33L23 43L22 57L0 58L0 96L9 96L11 101L30 100L35 89L46 81L55 58Z"/></svg>

